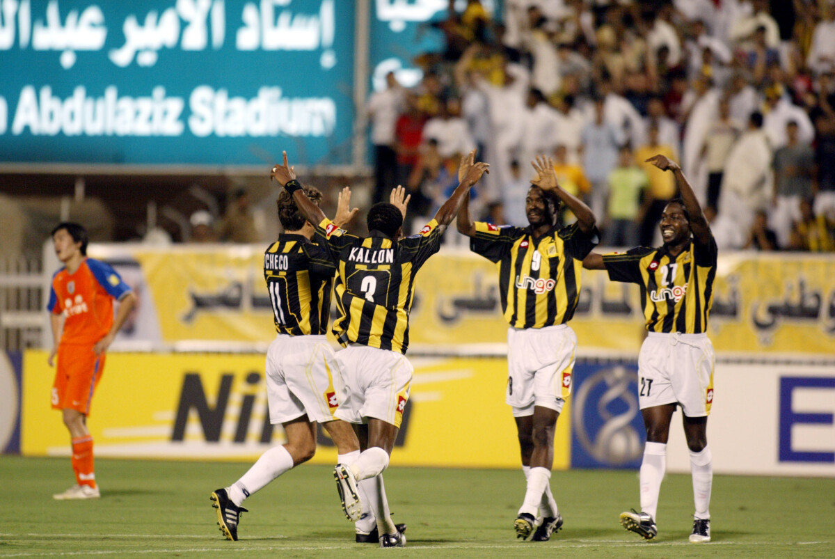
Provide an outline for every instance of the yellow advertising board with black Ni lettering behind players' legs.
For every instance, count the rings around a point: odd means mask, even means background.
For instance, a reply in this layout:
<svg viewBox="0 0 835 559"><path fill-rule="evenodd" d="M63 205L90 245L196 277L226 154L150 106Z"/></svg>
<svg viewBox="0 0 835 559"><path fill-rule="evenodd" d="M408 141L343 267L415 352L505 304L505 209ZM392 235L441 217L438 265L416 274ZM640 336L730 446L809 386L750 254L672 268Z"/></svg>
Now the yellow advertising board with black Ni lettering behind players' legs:
<svg viewBox="0 0 835 559"><path fill-rule="evenodd" d="M48 353L23 361L21 453L68 455L67 429L49 404ZM109 353L89 416L96 455L253 461L285 442L271 425L259 354ZM417 358L394 465L519 467L511 409L504 404L507 363L500 358ZM570 399L557 424L554 469L570 460ZM333 464L319 434L313 463Z"/></svg>

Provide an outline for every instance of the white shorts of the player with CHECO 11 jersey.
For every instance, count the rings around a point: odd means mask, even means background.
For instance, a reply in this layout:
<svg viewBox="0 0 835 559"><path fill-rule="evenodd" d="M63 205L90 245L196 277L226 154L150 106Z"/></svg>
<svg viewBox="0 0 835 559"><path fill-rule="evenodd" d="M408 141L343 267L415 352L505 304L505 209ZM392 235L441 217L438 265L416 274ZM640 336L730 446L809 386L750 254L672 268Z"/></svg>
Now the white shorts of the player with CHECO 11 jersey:
<svg viewBox="0 0 835 559"><path fill-rule="evenodd" d="M266 351L266 396L270 423L304 414L324 423L337 419L342 377L325 336L277 334Z"/></svg>

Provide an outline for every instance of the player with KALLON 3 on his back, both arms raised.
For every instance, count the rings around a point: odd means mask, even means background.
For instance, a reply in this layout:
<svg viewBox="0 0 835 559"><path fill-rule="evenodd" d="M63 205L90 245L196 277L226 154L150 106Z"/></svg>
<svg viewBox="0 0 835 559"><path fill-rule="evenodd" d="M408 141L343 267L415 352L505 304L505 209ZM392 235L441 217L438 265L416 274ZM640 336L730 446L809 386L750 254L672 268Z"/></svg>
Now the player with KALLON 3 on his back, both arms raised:
<svg viewBox="0 0 835 559"><path fill-rule="evenodd" d="M474 158L475 150L462 158L460 184L434 219L417 235L404 239L400 236L408 198L403 200L402 188L392 193L393 203L372 206L367 214L369 235L360 237L340 229L301 194L286 154L283 165L276 165L272 172L272 177L293 193L307 221L318 224L316 241L337 265L335 292L341 316L333 331L347 346L337 353L345 382L337 415L367 425L367 450L354 465L337 465L334 474L343 510L350 506L357 483L371 484L363 487L371 494L368 501L383 547L406 543L402 530L387 513L382 471L388 465L412 380L412 365L404 353L415 275L428 257L438 252L443 231L458 214L469 189L487 170L488 165L476 163Z"/></svg>

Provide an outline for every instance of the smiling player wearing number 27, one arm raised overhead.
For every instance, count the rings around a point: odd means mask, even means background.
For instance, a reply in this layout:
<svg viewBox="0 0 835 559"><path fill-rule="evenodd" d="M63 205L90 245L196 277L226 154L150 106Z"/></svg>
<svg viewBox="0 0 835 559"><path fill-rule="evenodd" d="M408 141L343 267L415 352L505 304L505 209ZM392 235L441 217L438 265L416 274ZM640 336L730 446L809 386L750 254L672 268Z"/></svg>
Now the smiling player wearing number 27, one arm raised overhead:
<svg viewBox="0 0 835 559"><path fill-rule="evenodd" d="M676 176L681 199L661 214L663 246L638 246L625 254L592 252L584 267L607 270L615 282L640 286L648 336L638 357L639 401L646 428L640 466L641 511L624 512L620 523L647 540L655 537L655 513L666 465L666 443L676 405L684 415L696 501L690 541L711 541L711 450L707 414L713 401L715 356L707 318L716 277L716 241L681 167L664 155L647 162Z"/></svg>

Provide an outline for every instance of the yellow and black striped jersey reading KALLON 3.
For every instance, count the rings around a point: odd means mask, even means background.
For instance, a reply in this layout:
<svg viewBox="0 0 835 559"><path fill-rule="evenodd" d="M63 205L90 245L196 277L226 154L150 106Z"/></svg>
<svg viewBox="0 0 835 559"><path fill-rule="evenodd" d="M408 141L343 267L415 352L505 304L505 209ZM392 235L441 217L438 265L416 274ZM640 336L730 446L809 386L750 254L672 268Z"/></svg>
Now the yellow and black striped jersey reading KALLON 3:
<svg viewBox="0 0 835 559"><path fill-rule="evenodd" d="M433 220L417 235L392 241L379 231L360 237L321 221L314 238L337 265L333 333L339 343L406 353L415 275L438 252L442 231Z"/></svg>

